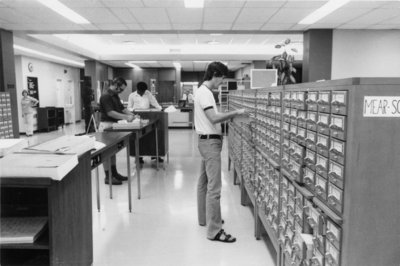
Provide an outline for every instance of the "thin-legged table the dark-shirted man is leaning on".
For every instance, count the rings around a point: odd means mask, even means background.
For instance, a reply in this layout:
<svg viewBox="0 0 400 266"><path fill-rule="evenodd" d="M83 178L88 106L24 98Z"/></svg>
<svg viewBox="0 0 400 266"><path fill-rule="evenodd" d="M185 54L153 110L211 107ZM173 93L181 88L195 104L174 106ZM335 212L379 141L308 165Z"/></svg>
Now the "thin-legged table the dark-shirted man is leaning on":
<svg viewBox="0 0 400 266"><path fill-rule="evenodd" d="M112 129L108 128L105 131L107 132L131 132L131 140L135 143L135 164L136 164L136 175L138 182L138 199L141 197L141 188L140 188L140 163L139 163L139 140L146 136L147 134L155 131L155 141L156 141L156 157L158 158L158 119L150 120L147 125L143 125L136 129ZM157 170L158 170L158 160L156 160Z"/></svg>

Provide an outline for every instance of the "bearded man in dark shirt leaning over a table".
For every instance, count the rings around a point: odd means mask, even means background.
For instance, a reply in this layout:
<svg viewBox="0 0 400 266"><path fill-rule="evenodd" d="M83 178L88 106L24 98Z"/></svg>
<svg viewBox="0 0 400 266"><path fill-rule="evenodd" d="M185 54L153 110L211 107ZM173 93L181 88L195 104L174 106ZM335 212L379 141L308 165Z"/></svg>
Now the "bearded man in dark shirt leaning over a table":
<svg viewBox="0 0 400 266"><path fill-rule="evenodd" d="M128 111L128 109L124 108L121 103L121 99L118 94L124 91L126 88L126 81L123 78L115 78L111 84L109 89L103 93L100 97L100 125L99 132L103 132L104 129L112 127L113 123L116 123L118 120L127 120L131 122L135 117L134 115ZM103 163L106 177L104 182L108 184L108 169L110 166L108 165L108 161ZM116 167L116 158L115 155L111 157L111 181L113 185L121 185L122 181L126 181L128 178L126 176L122 176L118 173Z"/></svg>

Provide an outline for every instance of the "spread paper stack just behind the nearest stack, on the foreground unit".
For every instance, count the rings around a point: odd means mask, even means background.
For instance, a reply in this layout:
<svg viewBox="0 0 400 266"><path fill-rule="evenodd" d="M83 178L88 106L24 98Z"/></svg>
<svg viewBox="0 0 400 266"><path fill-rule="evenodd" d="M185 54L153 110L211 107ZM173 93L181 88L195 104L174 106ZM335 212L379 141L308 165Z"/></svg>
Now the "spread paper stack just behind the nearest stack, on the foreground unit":
<svg viewBox="0 0 400 266"><path fill-rule="evenodd" d="M81 155L86 151L94 149L95 138L89 136L62 136L26 150L48 153L76 153Z"/></svg>

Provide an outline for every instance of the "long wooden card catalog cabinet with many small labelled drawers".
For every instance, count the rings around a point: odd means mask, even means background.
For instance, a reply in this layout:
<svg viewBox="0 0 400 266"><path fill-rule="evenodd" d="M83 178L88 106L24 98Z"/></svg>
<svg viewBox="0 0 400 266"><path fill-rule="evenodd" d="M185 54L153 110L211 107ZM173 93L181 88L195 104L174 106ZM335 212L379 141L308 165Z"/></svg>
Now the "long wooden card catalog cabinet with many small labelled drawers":
<svg viewBox="0 0 400 266"><path fill-rule="evenodd" d="M399 264L400 79L232 91L229 108L250 113L229 160L279 266Z"/></svg>

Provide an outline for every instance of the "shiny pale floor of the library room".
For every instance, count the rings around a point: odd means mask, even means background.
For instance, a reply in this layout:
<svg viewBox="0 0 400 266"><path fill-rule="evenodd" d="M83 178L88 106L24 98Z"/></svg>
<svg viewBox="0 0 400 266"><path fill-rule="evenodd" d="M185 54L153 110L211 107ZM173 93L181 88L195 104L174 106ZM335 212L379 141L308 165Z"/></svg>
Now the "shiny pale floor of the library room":
<svg viewBox="0 0 400 266"><path fill-rule="evenodd" d="M82 125L65 127L50 133L37 133L31 144L62 134L83 132ZM140 266L261 266L275 265L268 241L254 238L254 218L249 207L240 205L240 191L233 185L227 169L227 143L222 152L222 216L225 230L237 238L233 244L206 239L206 228L198 226L196 183L199 171L197 138L190 129L169 131L170 158L166 170L155 169L145 157L142 168L142 198L137 199L133 178L133 211L128 211L127 184L108 186L100 169L101 211L97 212L93 180L93 265ZM118 169L126 173L125 151L117 156ZM131 157L134 170L134 158ZM274 254L274 253L272 253Z"/></svg>

